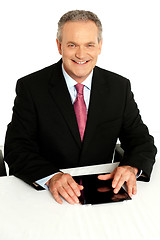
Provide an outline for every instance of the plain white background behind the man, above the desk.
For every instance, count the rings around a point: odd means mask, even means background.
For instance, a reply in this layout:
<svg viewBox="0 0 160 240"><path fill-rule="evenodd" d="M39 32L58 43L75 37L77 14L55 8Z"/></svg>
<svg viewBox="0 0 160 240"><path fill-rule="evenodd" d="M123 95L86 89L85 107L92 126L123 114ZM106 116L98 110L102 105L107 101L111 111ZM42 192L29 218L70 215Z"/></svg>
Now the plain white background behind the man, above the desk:
<svg viewBox="0 0 160 240"><path fill-rule="evenodd" d="M143 121L160 142L160 7L157 0L3 0L0 2L0 145L11 120L18 78L60 59L59 18L95 12L103 24L97 65L130 79Z"/></svg>

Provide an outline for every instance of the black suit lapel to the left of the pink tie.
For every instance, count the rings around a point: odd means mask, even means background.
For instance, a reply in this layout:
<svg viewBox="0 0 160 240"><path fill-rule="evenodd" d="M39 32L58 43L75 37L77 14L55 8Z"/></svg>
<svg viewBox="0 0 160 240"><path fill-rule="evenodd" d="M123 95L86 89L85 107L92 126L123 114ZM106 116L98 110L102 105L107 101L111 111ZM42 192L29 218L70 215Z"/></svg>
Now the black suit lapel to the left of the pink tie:
<svg viewBox="0 0 160 240"><path fill-rule="evenodd" d="M66 121L75 141L77 142L78 146L81 147L77 120L71 102L70 94L67 89L65 79L63 77L61 64L62 62L59 61L56 64L55 69L53 70L54 77L52 77L51 79L51 86L49 88L49 91L53 97L53 100L56 102L60 112L62 113L64 120Z"/></svg>

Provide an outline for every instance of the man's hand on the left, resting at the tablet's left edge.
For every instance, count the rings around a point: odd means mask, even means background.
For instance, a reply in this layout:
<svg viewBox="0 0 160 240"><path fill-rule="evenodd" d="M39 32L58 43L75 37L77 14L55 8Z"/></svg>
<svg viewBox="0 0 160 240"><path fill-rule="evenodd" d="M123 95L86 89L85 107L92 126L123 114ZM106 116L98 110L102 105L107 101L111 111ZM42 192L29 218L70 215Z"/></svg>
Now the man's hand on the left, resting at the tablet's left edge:
<svg viewBox="0 0 160 240"><path fill-rule="evenodd" d="M57 173L46 185L58 203L63 203L60 195L70 204L79 203L78 197L81 195L83 186L78 185L70 174Z"/></svg>

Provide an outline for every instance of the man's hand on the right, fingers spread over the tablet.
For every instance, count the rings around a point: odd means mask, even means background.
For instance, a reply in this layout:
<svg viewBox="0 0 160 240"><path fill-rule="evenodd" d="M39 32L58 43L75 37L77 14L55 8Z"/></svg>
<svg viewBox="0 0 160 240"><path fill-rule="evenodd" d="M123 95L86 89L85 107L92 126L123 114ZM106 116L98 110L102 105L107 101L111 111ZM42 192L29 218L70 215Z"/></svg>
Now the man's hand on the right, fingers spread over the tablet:
<svg viewBox="0 0 160 240"><path fill-rule="evenodd" d="M113 179L112 187L114 188L114 193L117 194L121 189L122 185L127 183L127 190L130 197L132 194L137 193L137 183L136 183L136 175L138 173L138 169L131 166L121 166L117 167L112 173L99 175L98 179L100 180L108 180Z"/></svg>

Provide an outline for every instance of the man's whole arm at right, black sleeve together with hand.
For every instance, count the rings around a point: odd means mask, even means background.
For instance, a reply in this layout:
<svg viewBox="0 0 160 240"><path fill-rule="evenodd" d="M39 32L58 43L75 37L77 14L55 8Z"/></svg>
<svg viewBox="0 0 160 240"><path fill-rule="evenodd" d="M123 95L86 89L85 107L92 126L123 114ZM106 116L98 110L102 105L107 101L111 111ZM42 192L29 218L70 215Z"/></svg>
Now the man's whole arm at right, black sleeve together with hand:
<svg viewBox="0 0 160 240"><path fill-rule="evenodd" d="M156 148L153 137L149 135L148 128L141 120L130 83L126 94L120 141L124 150L120 166L111 174L100 175L99 179L113 179L112 187L115 193L118 193L126 182L128 193L132 196L137 192L136 178L139 170L145 175L145 181L149 181L155 162Z"/></svg>

